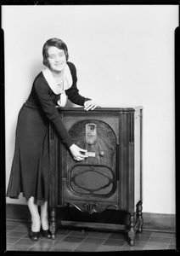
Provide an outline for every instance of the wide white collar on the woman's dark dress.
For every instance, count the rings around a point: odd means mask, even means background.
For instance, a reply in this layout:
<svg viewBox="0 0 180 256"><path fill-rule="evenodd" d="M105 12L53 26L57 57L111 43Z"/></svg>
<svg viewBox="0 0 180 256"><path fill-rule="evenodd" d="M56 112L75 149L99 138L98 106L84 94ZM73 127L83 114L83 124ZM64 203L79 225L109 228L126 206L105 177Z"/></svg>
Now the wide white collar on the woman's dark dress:
<svg viewBox="0 0 180 256"><path fill-rule="evenodd" d="M56 84L55 79L53 78L53 74L51 73L48 67L42 69L42 74L44 78L47 80L51 90L53 90L53 93L56 95L64 92L65 90L68 90L72 86L72 76L70 73L70 67L67 64L65 65L65 72L62 78L64 90L61 90L58 84Z"/></svg>

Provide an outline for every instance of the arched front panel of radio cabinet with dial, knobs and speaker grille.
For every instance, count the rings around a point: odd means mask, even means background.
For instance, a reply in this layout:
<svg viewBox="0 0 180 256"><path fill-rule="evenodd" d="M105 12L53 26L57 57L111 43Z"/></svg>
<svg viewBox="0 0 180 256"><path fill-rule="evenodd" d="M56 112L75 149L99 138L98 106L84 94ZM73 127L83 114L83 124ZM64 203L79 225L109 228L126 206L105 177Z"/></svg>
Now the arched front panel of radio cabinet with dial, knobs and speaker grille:
<svg viewBox="0 0 180 256"><path fill-rule="evenodd" d="M87 159L77 162L65 151L64 201L107 201L117 204L117 144L110 125L98 119L82 119L69 130L73 142L87 149Z"/></svg>

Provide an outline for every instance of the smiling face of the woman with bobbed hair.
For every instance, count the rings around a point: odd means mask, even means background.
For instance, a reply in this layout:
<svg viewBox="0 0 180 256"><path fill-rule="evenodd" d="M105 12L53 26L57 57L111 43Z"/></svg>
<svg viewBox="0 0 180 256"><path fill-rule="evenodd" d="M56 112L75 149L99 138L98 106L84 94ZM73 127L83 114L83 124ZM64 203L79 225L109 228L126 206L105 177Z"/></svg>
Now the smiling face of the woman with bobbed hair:
<svg viewBox="0 0 180 256"><path fill-rule="evenodd" d="M66 64L65 51L55 46L49 46L48 63L50 70L54 73L59 73L64 70Z"/></svg>

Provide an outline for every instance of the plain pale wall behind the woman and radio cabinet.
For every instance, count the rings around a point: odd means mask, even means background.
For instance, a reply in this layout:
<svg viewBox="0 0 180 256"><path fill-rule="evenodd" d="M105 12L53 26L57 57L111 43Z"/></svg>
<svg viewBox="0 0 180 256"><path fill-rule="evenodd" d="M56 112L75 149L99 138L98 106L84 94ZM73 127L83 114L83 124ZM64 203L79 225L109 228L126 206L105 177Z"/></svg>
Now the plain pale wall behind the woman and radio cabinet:
<svg viewBox="0 0 180 256"><path fill-rule="evenodd" d="M18 113L43 68L42 45L56 37L82 96L101 107L143 106L143 212L174 214L177 5L2 6L2 15L7 185Z"/></svg>

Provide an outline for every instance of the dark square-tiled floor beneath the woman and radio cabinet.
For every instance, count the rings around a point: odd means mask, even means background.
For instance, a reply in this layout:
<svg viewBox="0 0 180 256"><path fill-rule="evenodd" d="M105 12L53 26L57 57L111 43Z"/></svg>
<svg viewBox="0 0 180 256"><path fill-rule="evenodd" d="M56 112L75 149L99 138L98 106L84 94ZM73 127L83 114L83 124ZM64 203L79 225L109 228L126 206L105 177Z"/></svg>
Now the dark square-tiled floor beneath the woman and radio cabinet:
<svg viewBox="0 0 180 256"><path fill-rule="evenodd" d="M46 252L115 252L132 250L176 249L176 235L143 230L137 233L135 245L130 247L127 236L121 232L99 230L59 229L55 240L42 238L31 241L28 237L30 223L7 220L7 251Z"/></svg>

